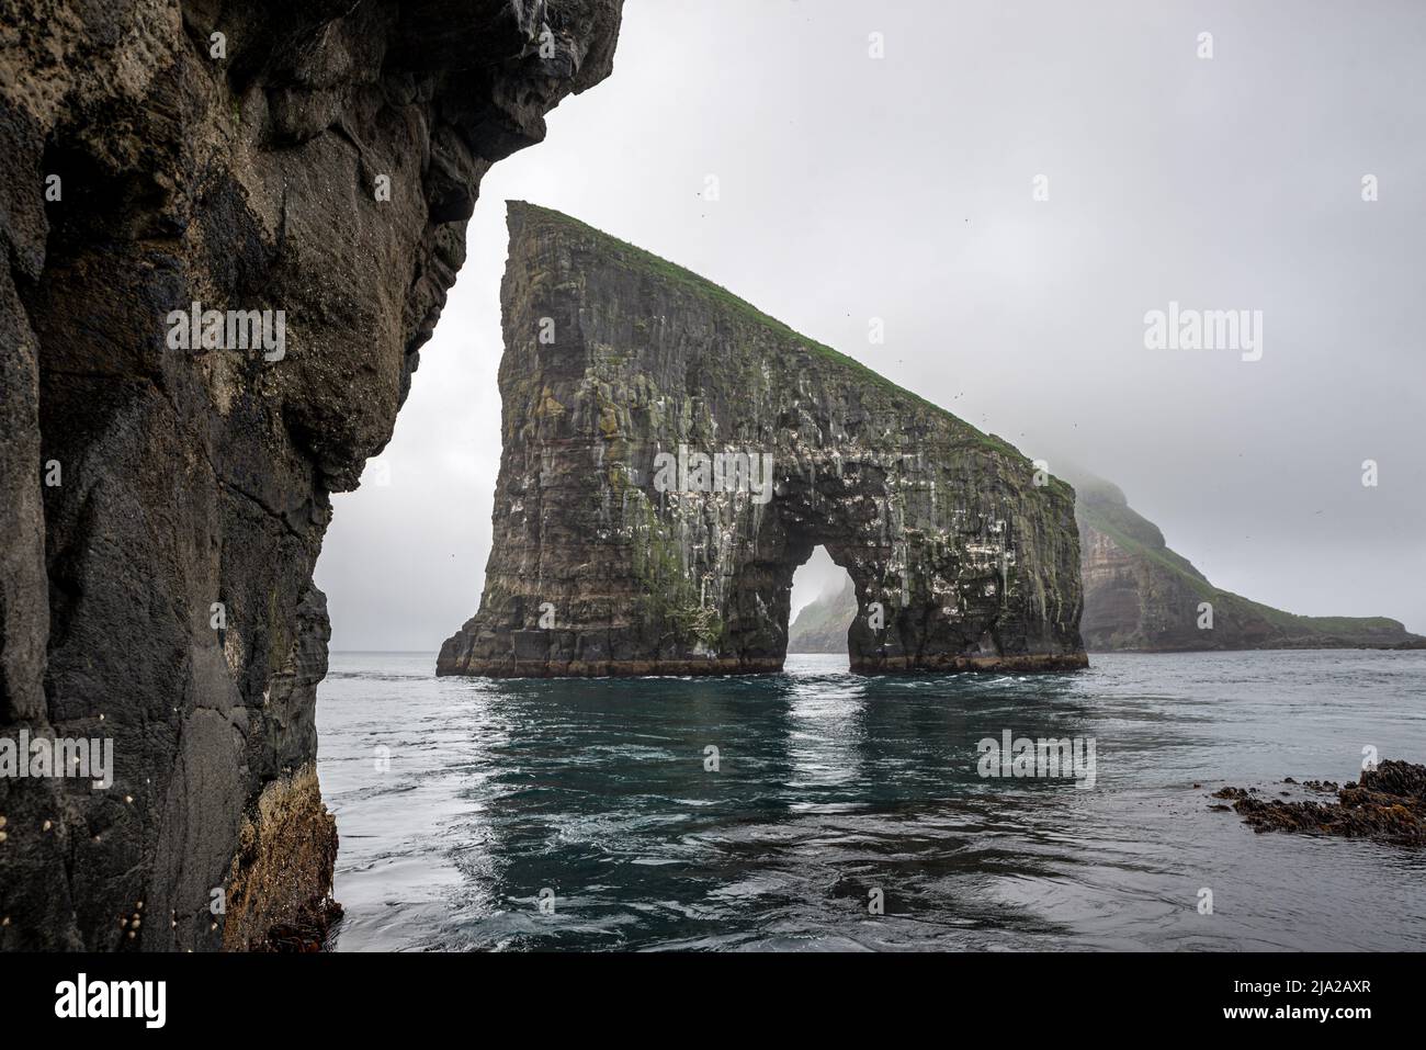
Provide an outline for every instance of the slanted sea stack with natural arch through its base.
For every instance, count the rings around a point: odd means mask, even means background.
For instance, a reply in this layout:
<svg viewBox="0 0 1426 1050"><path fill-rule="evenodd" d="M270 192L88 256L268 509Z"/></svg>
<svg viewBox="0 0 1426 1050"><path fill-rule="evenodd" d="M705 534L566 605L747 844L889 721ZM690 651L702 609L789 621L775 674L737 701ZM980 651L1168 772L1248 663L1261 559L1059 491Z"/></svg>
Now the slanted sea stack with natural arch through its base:
<svg viewBox="0 0 1426 1050"><path fill-rule="evenodd" d="M819 544L856 671L1084 663L1067 485L686 270L509 227L493 546L439 673L776 671Z"/></svg>

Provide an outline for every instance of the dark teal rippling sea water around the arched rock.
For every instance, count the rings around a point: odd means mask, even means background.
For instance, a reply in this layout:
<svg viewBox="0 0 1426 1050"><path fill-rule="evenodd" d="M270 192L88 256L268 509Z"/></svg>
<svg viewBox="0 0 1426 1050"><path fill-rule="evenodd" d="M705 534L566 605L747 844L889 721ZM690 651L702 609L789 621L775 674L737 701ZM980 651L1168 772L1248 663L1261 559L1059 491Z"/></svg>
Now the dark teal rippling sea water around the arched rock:
<svg viewBox="0 0 1426 1050"><path fill-rule="evenodd" d="M1323 797L1281 782L1355 779L1365 746L1426 760L1426 652L846 666L489 681L334 653L331 947L1426 949L1426 855L1259 835L1208 797ZM1092 739L1094 786L981 776L978 742L1007 729Z"/></svg>

